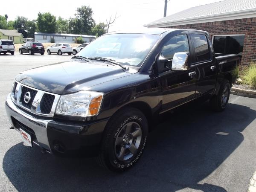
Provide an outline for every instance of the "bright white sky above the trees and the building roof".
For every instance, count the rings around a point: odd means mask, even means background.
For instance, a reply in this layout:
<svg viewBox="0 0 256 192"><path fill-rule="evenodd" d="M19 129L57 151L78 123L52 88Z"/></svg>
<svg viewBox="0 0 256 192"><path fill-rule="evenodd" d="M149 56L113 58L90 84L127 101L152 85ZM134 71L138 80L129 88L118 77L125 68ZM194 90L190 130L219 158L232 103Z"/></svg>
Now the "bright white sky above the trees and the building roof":
<svg viewBox="0 0 256 192"><path fill-rule="evenodd" d="M214 3L220 0L168 0L167 16L190 7ZM57 18L74 17L76 9L82 5L93 9L93 18L96 23L105 22L106 19L117 15L116 21L110 26L109 32L125 29L142 28L143 24L163 17L164 0L44 0L20 3L13 0L10 6L6 0L1 1L0 15L8 15L8 20L15 20L17 16L27 17L29 20L37 18L38 12L50 12Z"/></svg>

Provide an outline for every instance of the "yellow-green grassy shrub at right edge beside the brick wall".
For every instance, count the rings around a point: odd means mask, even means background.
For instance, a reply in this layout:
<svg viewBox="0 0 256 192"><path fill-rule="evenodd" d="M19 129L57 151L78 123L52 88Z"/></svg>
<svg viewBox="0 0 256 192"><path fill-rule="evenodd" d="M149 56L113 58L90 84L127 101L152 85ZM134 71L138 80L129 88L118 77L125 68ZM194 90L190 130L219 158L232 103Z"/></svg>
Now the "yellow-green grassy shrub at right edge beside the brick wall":
<svg viewBox="0 0 256 192"><path fill-rule="evenodd" d="M256 89L256 61L251 61L249 66L242 67L240 73L244 84L249 85L252 89Z"/></svg>

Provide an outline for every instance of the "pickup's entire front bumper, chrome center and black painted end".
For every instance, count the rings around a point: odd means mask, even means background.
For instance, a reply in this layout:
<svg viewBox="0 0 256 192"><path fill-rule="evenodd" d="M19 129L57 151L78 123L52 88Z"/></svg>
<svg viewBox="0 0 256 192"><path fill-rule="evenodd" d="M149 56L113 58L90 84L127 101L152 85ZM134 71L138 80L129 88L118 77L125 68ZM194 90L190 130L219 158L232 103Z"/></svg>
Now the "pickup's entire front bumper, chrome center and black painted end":
<svg viewBox="0 0 256 192"><path fill-rule="evenodd" d="M17 131L22 128L32 135L33 143L53 154L83 151L89 156L96 155L108 122L70 122L29 114L12 102L10 94L6 113Z"/></svg>

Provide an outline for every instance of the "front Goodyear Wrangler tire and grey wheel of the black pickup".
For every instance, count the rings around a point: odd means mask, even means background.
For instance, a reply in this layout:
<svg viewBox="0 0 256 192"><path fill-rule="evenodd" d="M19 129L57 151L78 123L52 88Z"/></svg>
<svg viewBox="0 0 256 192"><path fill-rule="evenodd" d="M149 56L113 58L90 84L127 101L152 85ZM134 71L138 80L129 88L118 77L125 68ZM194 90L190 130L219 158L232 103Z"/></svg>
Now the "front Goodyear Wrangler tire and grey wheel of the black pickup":
<svg viewBox="0 0 256 192"><path fill-rule="evenodd" d="M134 166L145 148L148 122L136 108L124 108L109 120L98 156L101 166L122 172Z"/></svg>

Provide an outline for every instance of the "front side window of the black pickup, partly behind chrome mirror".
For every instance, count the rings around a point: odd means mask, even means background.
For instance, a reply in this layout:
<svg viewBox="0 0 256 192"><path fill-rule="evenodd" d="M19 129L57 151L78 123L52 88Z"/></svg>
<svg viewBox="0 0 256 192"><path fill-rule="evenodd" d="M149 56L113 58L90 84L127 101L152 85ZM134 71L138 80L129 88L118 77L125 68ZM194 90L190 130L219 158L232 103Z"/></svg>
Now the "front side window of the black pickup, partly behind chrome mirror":
<svg viewBox="0 0 256 192"><path fill-rule="evenodd" d="M189 41L186 34L172 37L163 47L161 54L164 58L172 59L176 52L189 53Z"/></svg>

